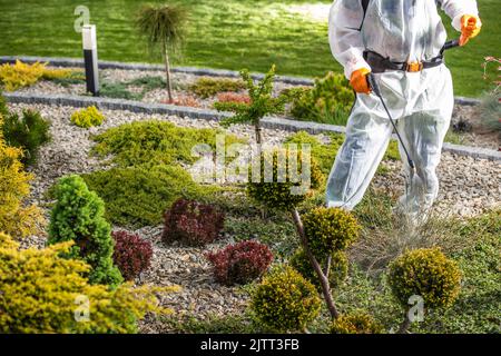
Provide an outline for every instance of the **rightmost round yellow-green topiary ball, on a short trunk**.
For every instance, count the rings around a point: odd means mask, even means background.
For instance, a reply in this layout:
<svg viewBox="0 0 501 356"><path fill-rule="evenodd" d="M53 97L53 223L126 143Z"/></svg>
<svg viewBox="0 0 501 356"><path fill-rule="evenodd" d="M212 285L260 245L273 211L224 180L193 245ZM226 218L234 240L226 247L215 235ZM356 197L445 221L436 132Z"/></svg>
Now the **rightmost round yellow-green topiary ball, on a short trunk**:
<svg viewBox="0 0 501 356"><path fill-rule="evenodd" d="M407 251L390 265L389 283L395 298L405 307L409 298L421 296L426 308L451 306L461 289L455 261L439 248Z"/></svg>

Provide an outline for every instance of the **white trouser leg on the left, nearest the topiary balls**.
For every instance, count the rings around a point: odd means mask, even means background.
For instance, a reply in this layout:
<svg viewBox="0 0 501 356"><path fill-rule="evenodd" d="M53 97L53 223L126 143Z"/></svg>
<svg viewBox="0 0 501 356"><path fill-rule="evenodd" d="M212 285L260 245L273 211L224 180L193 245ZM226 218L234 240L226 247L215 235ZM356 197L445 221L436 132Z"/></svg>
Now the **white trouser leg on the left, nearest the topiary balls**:
<svg viewBox="0 0 501 356"><path fill-rule="evenodd" d="M391 122L355 103L346 139L337 152L327 181L328 207L353 209L363 198L392 134Z"/></svg>

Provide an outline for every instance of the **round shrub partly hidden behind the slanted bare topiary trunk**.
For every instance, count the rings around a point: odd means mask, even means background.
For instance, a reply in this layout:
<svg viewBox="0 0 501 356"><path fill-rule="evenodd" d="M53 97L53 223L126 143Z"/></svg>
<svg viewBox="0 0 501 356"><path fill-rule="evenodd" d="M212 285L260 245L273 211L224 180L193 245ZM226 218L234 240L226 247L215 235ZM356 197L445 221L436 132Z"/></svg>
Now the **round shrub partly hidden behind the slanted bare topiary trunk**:
<svg viewBox="0 0 501 356"><path fill-rule="evenodd" d="M325 268L326 258L318 260L321 266ZM313 269L310 263L308 256L303 248L297 249L297 251L289 259L289 265L297 270L304 278L310 280L317 290L322 290L322 285L318 276ZM337 251L332 254L331 257L331 270L328 271L328 281L331 287L335 288L340 286L344 279L346 279L348 270L348 261L344 253Z"/></svg>

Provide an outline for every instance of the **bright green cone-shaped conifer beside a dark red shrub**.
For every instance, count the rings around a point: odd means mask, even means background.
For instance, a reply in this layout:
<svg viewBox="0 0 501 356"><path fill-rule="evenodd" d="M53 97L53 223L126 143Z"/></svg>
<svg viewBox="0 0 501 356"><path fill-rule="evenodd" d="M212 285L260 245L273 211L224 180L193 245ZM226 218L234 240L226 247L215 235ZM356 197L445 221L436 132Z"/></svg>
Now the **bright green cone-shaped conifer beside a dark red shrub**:
<svg viewBox="0 0 501 356"><path fill-rule="evenodd" d="M114 266L111 227L105 220L105 204L79 176L59 179L49 226L49 245L75 241L71 258L81 258L92 268L89 281L116 287L122 281Z"/></svg>

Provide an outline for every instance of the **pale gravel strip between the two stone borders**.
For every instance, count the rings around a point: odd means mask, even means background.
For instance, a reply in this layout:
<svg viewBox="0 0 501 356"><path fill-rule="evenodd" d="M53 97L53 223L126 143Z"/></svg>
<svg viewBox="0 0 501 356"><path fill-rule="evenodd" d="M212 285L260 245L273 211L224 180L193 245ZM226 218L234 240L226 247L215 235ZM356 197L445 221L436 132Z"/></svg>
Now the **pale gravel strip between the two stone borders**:
<svg viewBox="0 0 501 356"><path fill-rule="evenodd" d="M101 82L109 83L120 83L120 82L129 82L134 79L143 78L143 77L160 77L164 78L165 73L163 71L141 71L141 70L125 70L125 69L106 69L101 70ZM187 75L187 73L173 73L173 86L175 89L175 97L178 98L183 102L183 98L196 98L193 93L187 91L187 87L194 83L200 76ZM286 85L283 82L276 82L274 86L274 93L277 95L279 91L286 88L294 87L292 85ZM143 91L141 87L128 87L129 91L139 93ZM86 95L85 85L70 85L67 87L57 85L51 81L39 81L36 85L22 88L19 90L24 93L66 93L66 95L75 95L75 96L84 96ZM243 93L245 91L242 91ZM166 102L167 100L167 90L165 89L154 89L151 91L146 92L143 98L145 102L158 103ZM214 102L216 101L216 97L202 99L196 98L195 102L196 107L212 109ZM183 105L183 103L181 103ZM193 105L193 103L191 103ZM497 134L492 132L482 132L481 127L479 127L480 118L474 107L471 106L460 106L456 105L454 108L454 113L452 118L452 123L459 122L461 120L466 120L473 125L473 131L463 134L460 137L462 145L483 147L498 150L501 148L500 137Z"/></svg>

